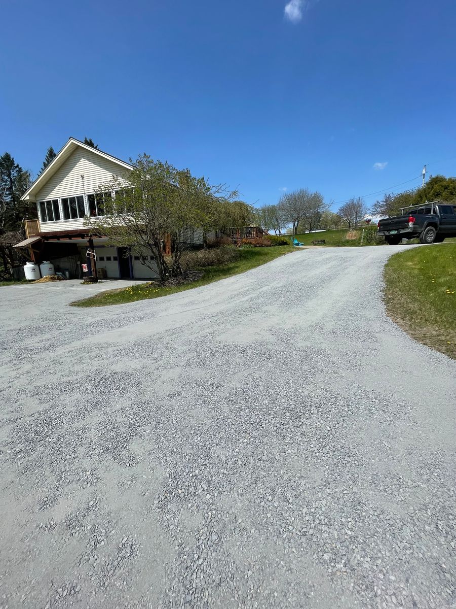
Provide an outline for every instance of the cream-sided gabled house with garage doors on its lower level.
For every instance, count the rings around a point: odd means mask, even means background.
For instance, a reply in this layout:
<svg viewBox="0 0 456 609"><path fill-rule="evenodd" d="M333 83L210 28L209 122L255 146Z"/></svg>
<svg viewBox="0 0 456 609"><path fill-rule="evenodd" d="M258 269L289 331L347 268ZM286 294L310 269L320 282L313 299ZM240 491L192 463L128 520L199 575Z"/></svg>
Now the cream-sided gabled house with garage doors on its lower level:
<svg viewBox="0 0 456 609"><path fill-rule="evenodd" d="M129 163L70 138L22 196L36 203L38 220L26 220L27 239L14 247L28 250L34 261L51 260L56 270L67 270L72 277L80 274L80 264L91 265L89 249L95 252L97 269L105 269L108 278L157 276L141 264L136 252L108 247L106 238L95 236L85 226L87 217L105 215L97 189L113 176L119 178L120 186L126 185L131 169ZM195 231L188 241L199 243L202 234ZM165 251L169 247L165 242ZM154 259L153 252L143 253Z"/></svg>

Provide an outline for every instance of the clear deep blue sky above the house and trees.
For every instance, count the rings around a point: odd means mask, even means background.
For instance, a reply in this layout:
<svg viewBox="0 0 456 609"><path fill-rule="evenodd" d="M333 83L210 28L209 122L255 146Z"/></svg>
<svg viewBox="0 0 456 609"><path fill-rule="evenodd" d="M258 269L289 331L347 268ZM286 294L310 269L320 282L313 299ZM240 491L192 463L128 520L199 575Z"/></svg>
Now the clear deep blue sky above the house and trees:
<svg viewBox="0 0 456 609"><path fill-rule="evenodd" d="M456 175L454 0L18 0L2 20L0 153L35 174L87 135L258 205Z"/></svg>

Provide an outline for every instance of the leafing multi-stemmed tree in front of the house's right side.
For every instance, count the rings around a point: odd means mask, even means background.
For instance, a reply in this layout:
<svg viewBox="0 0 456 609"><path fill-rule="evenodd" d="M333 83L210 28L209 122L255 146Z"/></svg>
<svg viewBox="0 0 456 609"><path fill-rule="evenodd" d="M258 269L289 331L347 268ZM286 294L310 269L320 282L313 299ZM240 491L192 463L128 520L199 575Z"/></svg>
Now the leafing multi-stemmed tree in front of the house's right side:
<svg viewBox="0 0 456 609"><path fill-rule="evenodd" d="M124 178L115 177L100 187L100 195L115 193L112 201L105 195L109 215L88 219L86 224L106 234L111 244L134 248L142 264L157 269L162 280L181 275L190 231L223 231L252 221L253 209L237 199L237 192L211 186L188 169L181 171L148 155L138 157ZM167 236L169 258L162 247ZM150 261L148 250L154 252L155 261Z"/></svg>

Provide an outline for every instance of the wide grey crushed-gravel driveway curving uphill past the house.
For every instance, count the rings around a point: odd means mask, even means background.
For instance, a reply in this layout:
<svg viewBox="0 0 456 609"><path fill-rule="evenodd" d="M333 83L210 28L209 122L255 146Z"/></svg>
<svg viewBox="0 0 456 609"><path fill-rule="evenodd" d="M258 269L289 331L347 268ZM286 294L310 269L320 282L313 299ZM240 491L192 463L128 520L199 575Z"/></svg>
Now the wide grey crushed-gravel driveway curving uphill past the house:
<svg viewBox="0 0 456 609"><path fill-rule="evenodd" d="M0 288L0 607L456 607L456 364L385 317L397 249Z"/></svg>

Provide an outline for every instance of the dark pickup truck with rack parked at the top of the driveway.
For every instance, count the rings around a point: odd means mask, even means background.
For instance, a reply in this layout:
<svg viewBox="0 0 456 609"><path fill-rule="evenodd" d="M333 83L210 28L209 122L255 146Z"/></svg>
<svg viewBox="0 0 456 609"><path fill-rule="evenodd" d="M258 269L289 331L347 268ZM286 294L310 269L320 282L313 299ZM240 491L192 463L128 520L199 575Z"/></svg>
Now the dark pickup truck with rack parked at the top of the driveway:
<svg viewBox="0 0 456 609"><path fill-rule="evenodd" d="M421 243L441 243L456 237L456 204L432 202L402 209L402 216L379 220L378 234L390 245L402 239L420 239Z"/></svg>

